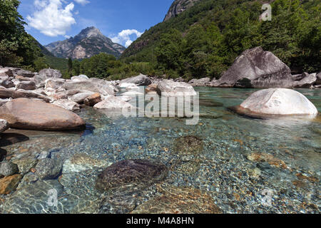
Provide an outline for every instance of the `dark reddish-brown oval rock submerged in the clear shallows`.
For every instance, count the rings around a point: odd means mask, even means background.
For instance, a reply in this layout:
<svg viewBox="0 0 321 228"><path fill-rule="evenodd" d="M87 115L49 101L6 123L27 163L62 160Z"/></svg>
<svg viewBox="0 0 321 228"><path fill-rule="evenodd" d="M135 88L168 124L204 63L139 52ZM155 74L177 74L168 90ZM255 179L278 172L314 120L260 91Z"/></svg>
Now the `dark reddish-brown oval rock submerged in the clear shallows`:
<svg viewBox="0 0 321 228"><path fill-rule="evenodd" d="M167 175L168 169L161 162L123 160L107 167L98 175L96 188L101 192L124 187L143 189L163 180Z"/></svg>

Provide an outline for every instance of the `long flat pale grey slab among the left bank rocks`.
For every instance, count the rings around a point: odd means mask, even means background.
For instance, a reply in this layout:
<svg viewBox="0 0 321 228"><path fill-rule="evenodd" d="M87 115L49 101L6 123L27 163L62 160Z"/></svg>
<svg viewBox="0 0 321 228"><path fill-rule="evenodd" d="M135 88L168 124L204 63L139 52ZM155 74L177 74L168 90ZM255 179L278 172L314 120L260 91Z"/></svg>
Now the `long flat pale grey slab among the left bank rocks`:
<svg viewBox="0 0 321 228"><path fill-rule="evenodd" d="M68 81L62 88L66 90L87 90L101 95L115 95L113 86L108 84L94 83L91 81Z"/></svg>

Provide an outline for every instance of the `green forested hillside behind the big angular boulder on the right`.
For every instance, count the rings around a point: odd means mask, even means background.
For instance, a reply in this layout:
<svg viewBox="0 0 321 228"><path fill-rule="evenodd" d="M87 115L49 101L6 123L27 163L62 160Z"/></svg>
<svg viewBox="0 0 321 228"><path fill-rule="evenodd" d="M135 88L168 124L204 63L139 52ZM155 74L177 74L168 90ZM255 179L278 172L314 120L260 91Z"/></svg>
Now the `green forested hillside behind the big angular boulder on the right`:
<svg viewBox="0 0 321 228"><path fill-rule="evenodd" d="M123 61L150 62L170 77L220 77L248 48L262 46L292 71L320 71L320 0L272 1L272 21L259 20L261 1L203 0L153 26Z"/></svg>

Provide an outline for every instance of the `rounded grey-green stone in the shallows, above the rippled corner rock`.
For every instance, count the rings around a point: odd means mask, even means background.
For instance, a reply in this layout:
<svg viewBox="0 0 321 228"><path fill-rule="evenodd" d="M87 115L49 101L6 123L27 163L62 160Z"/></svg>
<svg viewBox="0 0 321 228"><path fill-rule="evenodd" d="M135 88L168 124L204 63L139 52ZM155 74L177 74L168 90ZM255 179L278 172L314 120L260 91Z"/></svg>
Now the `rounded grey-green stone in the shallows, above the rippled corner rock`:
<svg viewBox="0 0 321 228"><path fill-rule="evenodd" d="M36 175L41 180L54 180L61 172L62 164L58 160L44 158L36 165Z"/></svg>

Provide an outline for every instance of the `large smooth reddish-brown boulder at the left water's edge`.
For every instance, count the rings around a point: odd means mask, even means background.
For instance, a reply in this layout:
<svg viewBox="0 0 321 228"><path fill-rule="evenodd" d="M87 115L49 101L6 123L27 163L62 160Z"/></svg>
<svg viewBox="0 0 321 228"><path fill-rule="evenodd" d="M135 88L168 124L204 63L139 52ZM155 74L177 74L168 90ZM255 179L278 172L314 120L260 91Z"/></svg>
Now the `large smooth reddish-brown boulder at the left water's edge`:
<svg viewBox="0 0 321 228"><path fill-rule="evenodd" d="M0 118L11 128L26 130L76 130L85 122L75 113L41 100L18 98L0 107Z"/></svg>

